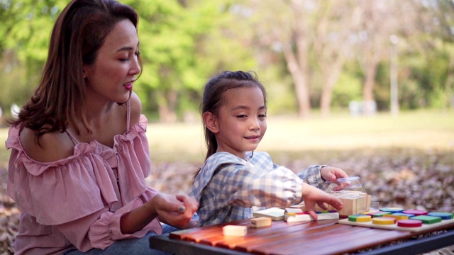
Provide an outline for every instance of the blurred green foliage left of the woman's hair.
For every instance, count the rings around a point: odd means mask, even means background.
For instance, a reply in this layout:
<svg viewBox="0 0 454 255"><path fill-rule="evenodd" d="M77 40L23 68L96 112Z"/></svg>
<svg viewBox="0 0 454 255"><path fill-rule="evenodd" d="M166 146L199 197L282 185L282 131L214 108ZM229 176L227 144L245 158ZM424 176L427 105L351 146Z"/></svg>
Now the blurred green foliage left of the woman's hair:
<svg viewBox="0 0 454 255"><path fill-rule="evenodd" d="M0 1L0 107L26 101L38 85L49 35L64 0Z"/></svg>

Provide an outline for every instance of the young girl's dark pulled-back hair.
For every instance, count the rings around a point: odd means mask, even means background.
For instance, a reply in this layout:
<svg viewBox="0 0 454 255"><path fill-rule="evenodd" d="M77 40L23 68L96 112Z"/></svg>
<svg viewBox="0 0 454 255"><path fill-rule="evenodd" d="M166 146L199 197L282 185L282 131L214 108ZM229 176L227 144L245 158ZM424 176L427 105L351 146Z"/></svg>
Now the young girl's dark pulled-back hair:
<svg viewBox="0 0 454 255"><path fill-rule="evenodd" d="M263 99L265 100L265 106L267 104L267 96L265 91L265 86L263 86L260 81L258 81L257 74L255 72L243 72L243 71L224 71L215 77L211 78L204 86L204 93L201 99L200 111L201 115L204 115L206 112L213 113L215 116L218 116L221 106L226 104L226 98L223 96L224 92L229 89L243 88L257 86L263 94ZM211 155L216 153L218 149L218 142L216 141L216 136L211 132L206 126L204 127L205 142L207 147L205 160L208 159ZM196 171L197 176L199 171Z"/></svg>

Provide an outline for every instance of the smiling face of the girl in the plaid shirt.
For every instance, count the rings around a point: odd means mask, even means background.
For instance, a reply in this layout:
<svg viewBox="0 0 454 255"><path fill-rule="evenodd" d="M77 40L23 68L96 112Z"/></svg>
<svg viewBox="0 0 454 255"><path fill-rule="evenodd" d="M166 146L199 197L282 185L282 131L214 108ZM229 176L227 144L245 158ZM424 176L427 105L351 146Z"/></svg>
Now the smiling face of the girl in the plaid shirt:
<svg viewBox="0 0 454 255"><path fill-rule="evenodd" d="M216 123L217 152L230 152L245 159L245 152L257 148L267 130L267 109L257 86L229 89L224 92Z"/></svg>

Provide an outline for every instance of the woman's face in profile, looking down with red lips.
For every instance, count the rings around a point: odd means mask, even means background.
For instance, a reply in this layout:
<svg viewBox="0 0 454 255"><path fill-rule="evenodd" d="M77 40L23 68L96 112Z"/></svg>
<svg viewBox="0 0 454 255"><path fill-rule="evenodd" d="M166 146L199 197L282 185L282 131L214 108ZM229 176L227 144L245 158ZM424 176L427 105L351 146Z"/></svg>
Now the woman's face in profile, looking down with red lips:
<svg viewBox="0 0 454 255"><path fill-rule="evenodd" d="M124 103L139 73L137 31L131 21L124 19L106 36L95 62L84 65L87 96L100 103Z"/></svg>

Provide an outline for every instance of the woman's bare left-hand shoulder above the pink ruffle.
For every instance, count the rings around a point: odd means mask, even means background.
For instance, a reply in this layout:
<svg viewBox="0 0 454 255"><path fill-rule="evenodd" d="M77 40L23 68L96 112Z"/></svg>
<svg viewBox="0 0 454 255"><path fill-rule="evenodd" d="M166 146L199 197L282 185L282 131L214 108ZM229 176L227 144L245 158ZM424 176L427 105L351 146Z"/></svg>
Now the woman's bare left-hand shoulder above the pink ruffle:
<svg viewBox="0 0 454 255"><path fill-rule="evenodd" d="M70 157L74 152L74 144L66 132L50 132L35 140L35 131L23 128L19 137L21 145L31 159L38 162L55 162Z"/></svg>

